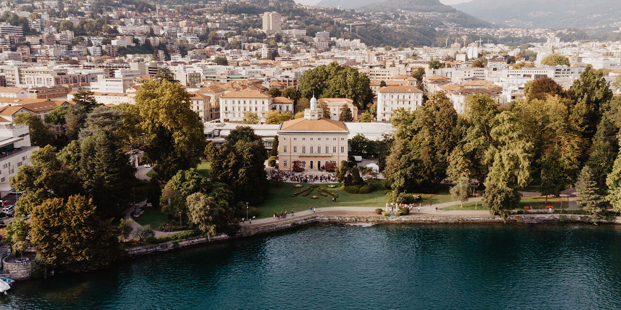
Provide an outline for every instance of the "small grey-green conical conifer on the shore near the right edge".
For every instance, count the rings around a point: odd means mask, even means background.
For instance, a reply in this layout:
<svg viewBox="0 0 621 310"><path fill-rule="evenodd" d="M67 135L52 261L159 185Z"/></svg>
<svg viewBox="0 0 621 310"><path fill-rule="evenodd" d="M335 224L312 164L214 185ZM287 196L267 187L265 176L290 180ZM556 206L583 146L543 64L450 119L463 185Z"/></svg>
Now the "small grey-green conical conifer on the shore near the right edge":
<svg viewBox="0 0 621 310"><path fill-rule="evenodd" d="M582 210L590 212L595 217L604 213L604 198L601 195L601 189L597 186L593 170L589 166L584 166L580 171L576 191L578 192L578 206Z"/></svg>

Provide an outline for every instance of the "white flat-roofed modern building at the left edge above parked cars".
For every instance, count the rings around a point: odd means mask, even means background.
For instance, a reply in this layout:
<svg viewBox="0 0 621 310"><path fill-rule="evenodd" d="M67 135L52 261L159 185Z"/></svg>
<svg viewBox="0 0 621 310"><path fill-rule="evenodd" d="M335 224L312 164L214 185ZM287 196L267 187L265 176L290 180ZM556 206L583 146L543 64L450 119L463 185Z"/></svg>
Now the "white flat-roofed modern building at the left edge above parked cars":
<svg viewBox="0 0 621 310"><path fill-rule="evenodd" d="M30 145L30 131L26 125L16 125L0 117L0 195L11 191L9 179L17 169L30 164L32 152L39 146Z"/></svg>

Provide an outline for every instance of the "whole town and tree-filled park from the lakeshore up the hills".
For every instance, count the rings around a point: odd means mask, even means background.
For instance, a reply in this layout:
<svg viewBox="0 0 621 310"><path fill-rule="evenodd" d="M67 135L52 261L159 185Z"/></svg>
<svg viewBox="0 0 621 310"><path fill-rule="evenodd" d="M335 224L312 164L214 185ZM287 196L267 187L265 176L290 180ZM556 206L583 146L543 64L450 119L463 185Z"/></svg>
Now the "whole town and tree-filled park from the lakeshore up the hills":
<svg viewBox="0 0 621 310"><path fill-rule="evenodd" d="M313 221L621 221L619 40L441 10L0 1L0 292Z"/></svg>

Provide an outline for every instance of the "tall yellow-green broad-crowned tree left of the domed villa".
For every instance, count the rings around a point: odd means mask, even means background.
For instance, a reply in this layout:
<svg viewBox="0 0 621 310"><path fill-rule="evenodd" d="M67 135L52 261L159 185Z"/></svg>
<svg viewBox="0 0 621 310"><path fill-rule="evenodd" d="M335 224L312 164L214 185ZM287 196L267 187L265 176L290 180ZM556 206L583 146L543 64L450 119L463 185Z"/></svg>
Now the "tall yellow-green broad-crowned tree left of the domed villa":
<svg viewBox="0 0 621 310"><path fill-rule="evenodd" d="M161 180L196 167L205 149L204 128L179 84L149 81L138 89L136 106L145 133L145 159Z"/></svg>

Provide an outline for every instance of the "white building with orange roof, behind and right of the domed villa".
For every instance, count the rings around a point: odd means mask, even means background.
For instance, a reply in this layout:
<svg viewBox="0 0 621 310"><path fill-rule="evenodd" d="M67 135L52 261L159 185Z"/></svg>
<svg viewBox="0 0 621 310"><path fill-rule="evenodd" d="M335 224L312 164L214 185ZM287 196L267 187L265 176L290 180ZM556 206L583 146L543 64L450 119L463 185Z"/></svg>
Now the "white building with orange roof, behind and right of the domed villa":
<svg viewBox="0 0 621 310"><path fill-rule="evenodd" d="M416 110L423 104L423 92L414 86L384 86L378 89L378 122L389 121L393 110Z"/></svg>

